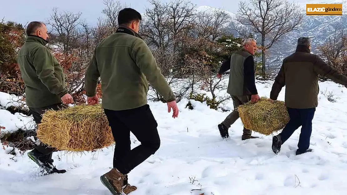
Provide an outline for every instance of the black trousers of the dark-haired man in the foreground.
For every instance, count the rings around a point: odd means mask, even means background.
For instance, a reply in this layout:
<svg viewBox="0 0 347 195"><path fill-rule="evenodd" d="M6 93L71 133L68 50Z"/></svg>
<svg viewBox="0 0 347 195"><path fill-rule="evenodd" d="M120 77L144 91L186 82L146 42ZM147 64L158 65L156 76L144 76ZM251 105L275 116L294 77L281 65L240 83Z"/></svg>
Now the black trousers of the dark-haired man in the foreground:
<svg viewBox="0 0 347 195"><path fill-rule="evenodd" d="M113 168L128 174L159 149L158 124L149 105L128 110L104 110L116 142ZM130 132L141 142L133 150L130 150Z"/></svg>

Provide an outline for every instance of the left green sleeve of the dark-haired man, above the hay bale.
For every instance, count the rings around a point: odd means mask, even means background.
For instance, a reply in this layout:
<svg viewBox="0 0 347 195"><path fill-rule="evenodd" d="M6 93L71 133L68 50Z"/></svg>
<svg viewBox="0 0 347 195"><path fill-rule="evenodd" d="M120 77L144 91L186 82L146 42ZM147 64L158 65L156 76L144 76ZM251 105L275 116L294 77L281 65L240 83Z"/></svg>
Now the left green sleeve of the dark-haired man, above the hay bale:
<svg viewBox="0 0 347 195"><path fill-rule="evenodd" d="M96 63L96 48L97 47L95 47L92 60L90 61L85 73L85 89L87 97L95 96L96 85L98 84L98 79L100 77L98 64Z"/></svg>

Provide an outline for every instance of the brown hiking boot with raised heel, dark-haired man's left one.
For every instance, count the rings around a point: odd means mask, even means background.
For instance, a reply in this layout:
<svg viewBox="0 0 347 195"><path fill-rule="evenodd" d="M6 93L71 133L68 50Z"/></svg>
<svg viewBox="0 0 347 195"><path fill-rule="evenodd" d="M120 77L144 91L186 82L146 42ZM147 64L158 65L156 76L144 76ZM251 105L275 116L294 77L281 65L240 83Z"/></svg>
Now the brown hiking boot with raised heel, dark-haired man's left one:
<svg viewBox="0 0 347 195"><path fill-rule="evenodd" d="M116 168L111 169L100 177L102 184L106 186L113 195L122 194L123 179L124 175L118 172Z"/></svg>

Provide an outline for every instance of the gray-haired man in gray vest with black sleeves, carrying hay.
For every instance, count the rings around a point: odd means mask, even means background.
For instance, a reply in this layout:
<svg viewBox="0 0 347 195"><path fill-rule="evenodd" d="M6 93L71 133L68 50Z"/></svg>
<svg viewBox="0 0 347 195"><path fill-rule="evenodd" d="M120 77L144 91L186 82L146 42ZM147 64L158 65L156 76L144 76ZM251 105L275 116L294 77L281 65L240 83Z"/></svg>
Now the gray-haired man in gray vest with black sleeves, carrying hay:
<svg viewBox="0 0 347 195"><path fill-rule="evenodd" d="M217 74L221 75L230 69L229 85L227 93L231 95L234 110L218 125L219 133L223 139L229 137L228 129L239 118L239 113L235 110L239 105L248 101L256 103L259 100L257 88L255 86L255 65L253 55L257 51L256 40L247 38L243 42L240 51L233 53L225 61ZM252 135L252 131L243 128L242 140L257 138Z"/></svg>

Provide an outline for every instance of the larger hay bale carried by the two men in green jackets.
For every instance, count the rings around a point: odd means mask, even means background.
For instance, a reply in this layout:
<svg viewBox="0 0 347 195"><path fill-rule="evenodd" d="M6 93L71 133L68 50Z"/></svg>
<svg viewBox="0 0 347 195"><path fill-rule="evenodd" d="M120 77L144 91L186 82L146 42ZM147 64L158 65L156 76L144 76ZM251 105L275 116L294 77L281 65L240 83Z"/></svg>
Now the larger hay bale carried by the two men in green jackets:
<svg viewBox="0 0 347 195"><path fill-rule="evenodd" d="M92 151L114 143L111 127L100 104L47 110L37 138L58 150Z"/></svg>

